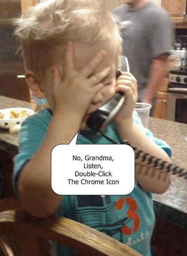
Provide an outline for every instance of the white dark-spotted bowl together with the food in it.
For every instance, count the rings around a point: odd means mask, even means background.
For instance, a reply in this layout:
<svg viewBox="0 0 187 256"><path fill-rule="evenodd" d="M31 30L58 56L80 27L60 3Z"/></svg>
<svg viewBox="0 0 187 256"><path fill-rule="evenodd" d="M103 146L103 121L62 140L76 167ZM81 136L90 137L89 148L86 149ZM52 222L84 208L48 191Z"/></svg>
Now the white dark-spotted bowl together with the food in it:
<svg viewBox="0 0 187 256"><path fill-rule="evenodd" d="M29 108L6 108L0 110L0 127L9 129L14 125L21 123L28 117L34 114L34 111Z"/></svg>

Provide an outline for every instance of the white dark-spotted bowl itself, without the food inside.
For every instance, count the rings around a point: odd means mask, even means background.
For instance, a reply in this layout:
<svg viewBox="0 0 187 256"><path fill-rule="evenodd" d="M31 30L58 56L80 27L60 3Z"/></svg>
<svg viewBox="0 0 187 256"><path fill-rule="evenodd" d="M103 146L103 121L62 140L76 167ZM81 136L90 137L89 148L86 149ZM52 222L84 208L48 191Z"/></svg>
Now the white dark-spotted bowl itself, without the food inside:
<svg viewBox="0 0 187 256"><path fill-rule="evenodd" d="M32 109L29 108L5 108L5 109L1 109L0 113L4 114L3 119L0 119L0 127L5 128L5 129L9 129L10 127L16 125L16 124L20 124L28 117L20 117L20 118L12 118L10 119L10 111L22 111L25 110L27 111L27 113L31 116L34 114L34 111Z"/></svg>

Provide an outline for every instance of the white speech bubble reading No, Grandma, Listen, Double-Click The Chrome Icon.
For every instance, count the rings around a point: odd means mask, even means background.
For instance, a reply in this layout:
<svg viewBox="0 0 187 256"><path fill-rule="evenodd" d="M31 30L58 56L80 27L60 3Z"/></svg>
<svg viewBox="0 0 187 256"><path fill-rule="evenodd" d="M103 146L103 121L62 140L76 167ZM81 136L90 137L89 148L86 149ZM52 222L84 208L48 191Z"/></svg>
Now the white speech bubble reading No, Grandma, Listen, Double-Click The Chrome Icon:
<svg viewBox="0 0 187 256"><path fill-rule="evenodd" d="M135 153L123 144L56 145L51 187L59 195L126 195L135 187Z"/></svg>

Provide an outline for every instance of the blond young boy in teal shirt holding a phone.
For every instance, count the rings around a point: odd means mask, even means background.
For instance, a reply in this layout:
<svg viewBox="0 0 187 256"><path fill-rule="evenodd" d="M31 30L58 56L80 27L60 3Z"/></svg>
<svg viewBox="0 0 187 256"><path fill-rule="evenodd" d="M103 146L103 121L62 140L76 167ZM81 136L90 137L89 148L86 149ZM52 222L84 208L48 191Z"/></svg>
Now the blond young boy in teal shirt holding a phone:
<svg viewBox="0 0 187 256"><path fill-rule="evenodd" d="M165 161L171 155L168 145L154 139L133 112L137 101L133 75L123 72L116 81L122 40L103 2L48 1L17 21L27 83L37 98L47 98L50 110L42 109L23 123L13 184L28 213L38 218L58 214L82 222L148 255L154 227L150 192L168 188L168 173L136 173L135 189L127 196L59 196L51 189L50 154L55 145L68 144L78 130L78 143L109 144L89 130L86 120L117 91L125 93L126 101L104 133ZM59 256L74 255L62 245L55 250Z"/></svg>

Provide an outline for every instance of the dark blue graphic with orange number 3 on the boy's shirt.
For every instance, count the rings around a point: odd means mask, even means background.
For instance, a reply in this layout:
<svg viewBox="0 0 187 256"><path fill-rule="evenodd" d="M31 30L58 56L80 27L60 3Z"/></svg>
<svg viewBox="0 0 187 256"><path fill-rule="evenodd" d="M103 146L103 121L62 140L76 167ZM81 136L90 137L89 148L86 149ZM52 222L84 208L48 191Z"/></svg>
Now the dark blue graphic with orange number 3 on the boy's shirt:
<svg viewBox="0 0 187 256"><path fill-rule="evenodd" d="M135 212L137 203L131 197L120 197L113 202L111 196L75 196L75 220L123 242L140 227L140 217Z"/></svg>

